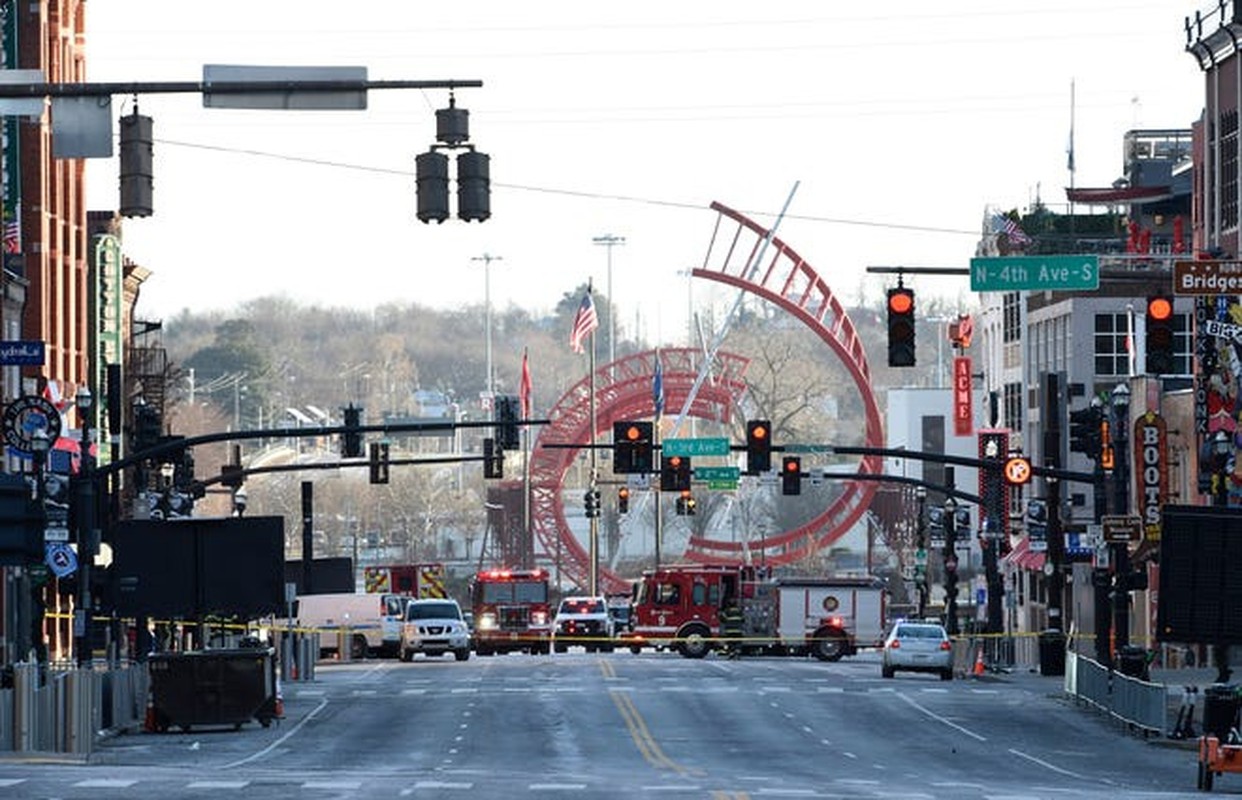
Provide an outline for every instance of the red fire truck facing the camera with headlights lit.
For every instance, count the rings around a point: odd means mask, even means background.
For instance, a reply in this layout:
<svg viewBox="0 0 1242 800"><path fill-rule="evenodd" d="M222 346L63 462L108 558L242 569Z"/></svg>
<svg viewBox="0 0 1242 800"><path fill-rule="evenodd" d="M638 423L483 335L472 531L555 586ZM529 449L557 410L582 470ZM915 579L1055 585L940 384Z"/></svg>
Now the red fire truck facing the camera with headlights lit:
<svg viewBox="0 0 1242 800"><path fill-rule="evenodd" d="M489 569L469 585L474 614L474 652L491 656L524 650L551 652L548 570Z"/></svg>

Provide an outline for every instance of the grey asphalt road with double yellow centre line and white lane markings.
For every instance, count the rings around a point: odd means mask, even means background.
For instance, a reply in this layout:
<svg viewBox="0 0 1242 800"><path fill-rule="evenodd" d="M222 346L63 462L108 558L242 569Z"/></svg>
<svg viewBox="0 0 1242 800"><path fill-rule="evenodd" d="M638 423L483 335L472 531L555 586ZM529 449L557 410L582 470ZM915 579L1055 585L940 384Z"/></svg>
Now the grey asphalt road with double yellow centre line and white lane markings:
<svg viewBox="0 0 1242 800"><path fill-rule="evenodd" d="M327 666L278 727L138 733L86 764L0 764L0 796L1196 796L1192 753L1033 673L943 683L874 656L510 655ZM1222 793L1242 794L1242 776Z"/></svg>

